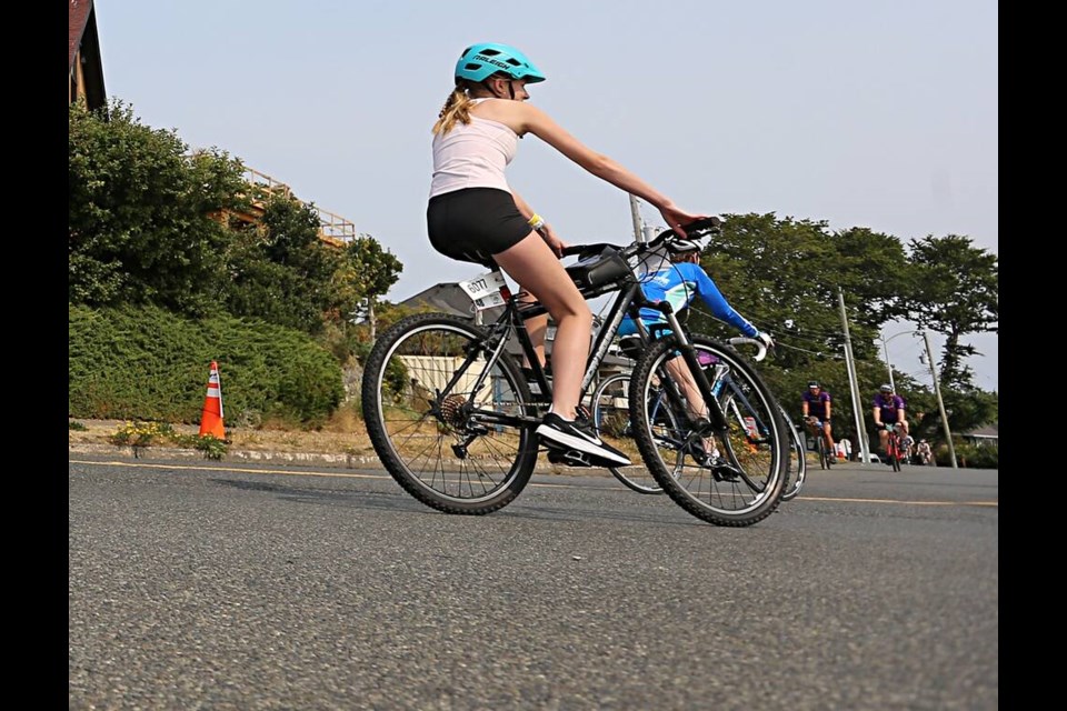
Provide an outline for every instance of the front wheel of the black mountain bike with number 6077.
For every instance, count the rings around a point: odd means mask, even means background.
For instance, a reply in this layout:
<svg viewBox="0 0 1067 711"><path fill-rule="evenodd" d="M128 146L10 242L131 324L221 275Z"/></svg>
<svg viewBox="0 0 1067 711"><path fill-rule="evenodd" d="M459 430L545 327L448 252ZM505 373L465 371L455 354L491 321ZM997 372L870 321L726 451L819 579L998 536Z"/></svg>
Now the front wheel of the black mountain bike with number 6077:
<svg viewBox="0 0 1067 711"><path fill-rule="evenodd" d="M678 423L669 438L657 437L647 403L657 379L669 388L666 369L675 357L674 338L652 343L638 359L630 382L635 439L645 463L667 494L692 515L716 525L751 525L770 515L781 501L789 461L789 435L781 408L756 370L732 348L705 336L691 337L705 356L727 429L716 432L719 457L701 465L694 444L710 433L691 421L687 408L669 397ZM634 407L634 403L642 403Z"/></svg>

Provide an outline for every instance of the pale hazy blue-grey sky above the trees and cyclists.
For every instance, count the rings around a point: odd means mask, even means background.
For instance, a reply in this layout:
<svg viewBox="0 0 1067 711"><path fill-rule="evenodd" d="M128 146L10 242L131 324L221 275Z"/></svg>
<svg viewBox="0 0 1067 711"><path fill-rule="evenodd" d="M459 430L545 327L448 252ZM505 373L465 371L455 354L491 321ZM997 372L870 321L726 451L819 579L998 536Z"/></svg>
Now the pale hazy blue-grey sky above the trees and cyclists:
<svg viewBox="0 0 1067 711"><path fill-rule="evenodd" d="M548 76L534 101L687 209L999 253L993 0L94 4L109 96L372 234L405 264L391 300L473 276L429 248L425 210L430 127L479 41L522 49ZM570 242L631 236L627 196L536 138L509 180ZM906 372L913 341L889 342ZM973 339L987 390L997 341Z"/></svg>

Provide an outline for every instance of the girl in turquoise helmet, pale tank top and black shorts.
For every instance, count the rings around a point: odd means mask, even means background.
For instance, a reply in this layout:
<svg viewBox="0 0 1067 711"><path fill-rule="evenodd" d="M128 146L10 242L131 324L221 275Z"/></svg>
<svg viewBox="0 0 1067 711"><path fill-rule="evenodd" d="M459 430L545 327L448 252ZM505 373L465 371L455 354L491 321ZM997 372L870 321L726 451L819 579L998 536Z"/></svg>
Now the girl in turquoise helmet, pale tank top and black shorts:
<svg viewBox="0 0 1067 711"><path fill-rule="evenodd" d="M548 309L556 321L552 405L537 433L611 465L629 458L605 443L578 415L592 312L559 256L555 230L509 187L505 168L518 139L537 136L594 176L655 206L676 232L705 216L677 207L665 194L565 131L527 103L527 86L545 74L507 44L468 47L456 63L455 88L433 126L433 177L427 228L433 248L452 259L499 266Z"/></svg>

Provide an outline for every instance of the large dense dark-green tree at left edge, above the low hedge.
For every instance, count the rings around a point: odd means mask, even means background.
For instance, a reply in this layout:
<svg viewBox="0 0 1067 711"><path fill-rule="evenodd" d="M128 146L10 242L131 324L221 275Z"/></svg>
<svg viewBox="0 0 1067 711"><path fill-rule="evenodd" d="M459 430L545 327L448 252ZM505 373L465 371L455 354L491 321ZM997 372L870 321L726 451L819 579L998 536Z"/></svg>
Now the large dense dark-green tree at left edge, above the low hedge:
<svg viewBox="0 0 1067 711"><path fill-rule="evenodd" d="M68 300L207 312L228 241L210 216L242 204L240 163L189 156L118 100L70 104L68 148Z"/></svg>

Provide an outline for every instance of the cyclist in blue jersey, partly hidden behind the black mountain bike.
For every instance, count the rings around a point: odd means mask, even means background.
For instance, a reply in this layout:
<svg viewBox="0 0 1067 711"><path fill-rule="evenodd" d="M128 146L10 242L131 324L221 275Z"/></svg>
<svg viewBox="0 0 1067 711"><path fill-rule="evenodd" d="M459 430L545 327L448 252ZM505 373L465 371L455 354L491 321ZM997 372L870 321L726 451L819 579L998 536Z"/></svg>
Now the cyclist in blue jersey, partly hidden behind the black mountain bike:
<svg viewBox="0 0 1067 711"><path fill-rule="evenodd" d="M774 348L775 341L769 333L761 332L745 317L734 310L726 301L719 288L715 286L704 268L700 267L700 244L692 240L676 240L670 242L670 262L645 276L641 290L649 301L667 301L675 313L687 308L697 297L711 310L712 316L725 321L742 334L755 338L767 348ZM641 323L654 336L669 333L669 329L654 330L650 327L666 324L667 319L655 309L645 308L640 311ZM619 336L634 336L638 332L637 323L627 316L619 326ZM700 389L689 372L688 365L680 357L667 362L667 371L675 379L686 397L689 417L707 418L708 407L704 402ZM694 452L695 459L702 465L710 467L717 455L715 440L704 441L704 451Z"/></svg>

